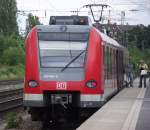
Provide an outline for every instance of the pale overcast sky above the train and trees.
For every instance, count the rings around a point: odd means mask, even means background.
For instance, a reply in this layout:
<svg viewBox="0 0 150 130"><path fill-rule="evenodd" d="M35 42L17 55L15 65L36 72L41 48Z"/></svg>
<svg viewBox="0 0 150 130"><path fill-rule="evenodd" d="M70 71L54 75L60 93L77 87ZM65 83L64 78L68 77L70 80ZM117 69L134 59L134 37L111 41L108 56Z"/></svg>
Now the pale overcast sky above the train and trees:
<svg viewBox="0 0 150 130"><path fill-rule="evenodd" d="M48 24L52 15L79 15L91 17L90 10L83 8L87 4L108 4L103 13L103 23L110 19L111 23L121 23L121 12L125 12L123 24L150 24L150 0L17 0L18 23L24 29L28 13L37 15L43 24ZM100 7L93 8L95 16L99 17ZM110 10L110 11L109 11ZM92 17L91 17L92 19Z"/></svg>

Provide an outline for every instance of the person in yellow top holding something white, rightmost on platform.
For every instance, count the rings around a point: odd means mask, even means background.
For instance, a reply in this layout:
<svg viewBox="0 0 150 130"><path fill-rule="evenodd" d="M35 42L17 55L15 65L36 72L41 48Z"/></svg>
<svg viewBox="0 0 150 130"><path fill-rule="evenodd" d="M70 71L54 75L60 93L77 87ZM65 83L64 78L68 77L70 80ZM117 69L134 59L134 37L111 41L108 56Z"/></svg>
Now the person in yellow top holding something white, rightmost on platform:
<svg viewBox="0 0 150 130"><path fill-rule="evenodd" d="M146 77L147 77L148 66L147 66L146 63L144 63L143 60L140 61L139 69L140 69L140 84L139 84L139 88L142 87L143 80L144 80L144 88L146 88Z"/></svg>

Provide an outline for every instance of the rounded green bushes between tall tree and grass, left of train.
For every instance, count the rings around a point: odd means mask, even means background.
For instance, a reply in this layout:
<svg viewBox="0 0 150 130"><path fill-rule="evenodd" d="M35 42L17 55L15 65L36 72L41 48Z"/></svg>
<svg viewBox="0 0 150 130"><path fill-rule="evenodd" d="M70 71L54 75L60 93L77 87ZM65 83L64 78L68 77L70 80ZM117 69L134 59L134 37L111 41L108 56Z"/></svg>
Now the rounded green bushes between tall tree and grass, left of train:
<svg viewBox="0 0 150 130"><path fill-rule="evenodd" d="M23 40L19 36L0 36L0 64L17 65L24 63Z"/></svg>

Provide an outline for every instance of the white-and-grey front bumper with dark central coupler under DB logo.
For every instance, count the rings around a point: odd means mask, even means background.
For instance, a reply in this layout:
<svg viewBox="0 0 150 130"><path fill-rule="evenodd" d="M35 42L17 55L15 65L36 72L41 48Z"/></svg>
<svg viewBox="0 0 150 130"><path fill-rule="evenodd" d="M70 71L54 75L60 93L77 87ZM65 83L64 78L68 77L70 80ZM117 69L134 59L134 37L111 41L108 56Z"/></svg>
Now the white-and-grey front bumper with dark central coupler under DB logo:
<svg viewBox="0 0 150 130"><path fill-rule="evenodd" d="M23 104L26 107L46 107L50 105L66 104L72 107L95 108L104 103L100 94L24 94Z"/></svg>

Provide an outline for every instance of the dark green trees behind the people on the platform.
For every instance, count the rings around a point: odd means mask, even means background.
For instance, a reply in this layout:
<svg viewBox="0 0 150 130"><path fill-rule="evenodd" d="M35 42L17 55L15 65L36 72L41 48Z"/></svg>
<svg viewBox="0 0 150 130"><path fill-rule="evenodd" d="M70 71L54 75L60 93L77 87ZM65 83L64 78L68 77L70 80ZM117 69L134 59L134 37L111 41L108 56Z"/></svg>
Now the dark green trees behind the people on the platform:
<svg viewBox="0 0 150 130"><path fill-rule="evenodd" d="M132 58L135 72L138 73L139 61L143 59L150 68L150 25L136 26L128 34L128 49Z"/></svg>

